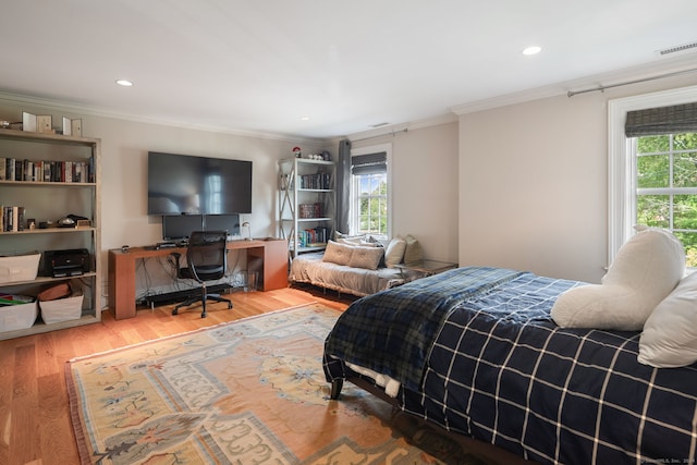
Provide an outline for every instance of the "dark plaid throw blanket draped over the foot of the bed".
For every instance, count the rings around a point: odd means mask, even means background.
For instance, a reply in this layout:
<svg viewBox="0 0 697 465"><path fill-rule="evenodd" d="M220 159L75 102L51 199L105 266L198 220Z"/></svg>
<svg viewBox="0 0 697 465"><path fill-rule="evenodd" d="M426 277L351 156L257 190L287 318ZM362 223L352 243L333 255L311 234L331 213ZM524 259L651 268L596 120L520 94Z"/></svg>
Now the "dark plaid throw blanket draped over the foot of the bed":
<svg viewBox="0 0 697 465"><path fill-rule="evenodd" d="M335 356L418 391L428 353L448 315L521 274L501 268L458 268L354 302L325 343L327 380L335 378L328 359Z"/></svg>

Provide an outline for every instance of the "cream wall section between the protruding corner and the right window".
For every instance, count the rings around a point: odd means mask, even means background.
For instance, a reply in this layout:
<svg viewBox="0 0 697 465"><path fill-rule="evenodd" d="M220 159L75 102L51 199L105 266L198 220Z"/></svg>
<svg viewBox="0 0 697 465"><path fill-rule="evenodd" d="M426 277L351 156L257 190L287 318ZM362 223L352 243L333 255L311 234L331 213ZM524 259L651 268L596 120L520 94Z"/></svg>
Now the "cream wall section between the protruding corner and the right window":
<svg viewBox="0 0 697 465"><path fill-rule="evenodd" d="M460 117L460 264L599 282L608 264L609 99L688 77Z"/></svg>

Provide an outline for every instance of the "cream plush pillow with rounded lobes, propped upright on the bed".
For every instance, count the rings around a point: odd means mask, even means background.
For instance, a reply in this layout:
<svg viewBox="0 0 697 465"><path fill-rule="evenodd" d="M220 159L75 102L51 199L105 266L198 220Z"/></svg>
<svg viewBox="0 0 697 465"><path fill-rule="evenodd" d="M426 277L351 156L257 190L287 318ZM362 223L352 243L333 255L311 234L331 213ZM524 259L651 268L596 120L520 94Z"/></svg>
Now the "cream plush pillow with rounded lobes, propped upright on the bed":
<svg viewBox="0 0 697 465"><path fill-rule="evenodd" d="M559 296L551 316L562 328L638 331L685 272L683 244L668 231L647 229L617 252L602 284Z"/></svg>

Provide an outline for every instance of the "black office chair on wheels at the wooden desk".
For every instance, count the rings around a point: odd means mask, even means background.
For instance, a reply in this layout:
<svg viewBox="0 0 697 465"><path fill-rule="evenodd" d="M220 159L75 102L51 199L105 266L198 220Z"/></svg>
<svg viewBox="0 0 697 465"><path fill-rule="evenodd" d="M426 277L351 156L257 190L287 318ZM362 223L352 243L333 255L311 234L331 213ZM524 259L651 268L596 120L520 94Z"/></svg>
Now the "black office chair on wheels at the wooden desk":
<svg viewBox="0 0 697 465"><path fill-rule="evenodd" d="M172 254L176 261L176 277L193 279L200 284L200 294L192 295L186 301L178 304L172 315L179 314L181 307L187 307L196 302L201 302L201 318L206 318L206 301L227 302L228 308L232 308L232 302L221 297L220 294L208 294L207 281L216 281L225 276L228 268L228 232L227 231L194 231L188 238L186 249L187 267L180 266L181 254Z"/></svg>

